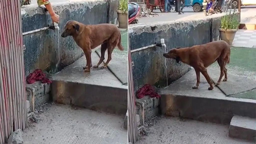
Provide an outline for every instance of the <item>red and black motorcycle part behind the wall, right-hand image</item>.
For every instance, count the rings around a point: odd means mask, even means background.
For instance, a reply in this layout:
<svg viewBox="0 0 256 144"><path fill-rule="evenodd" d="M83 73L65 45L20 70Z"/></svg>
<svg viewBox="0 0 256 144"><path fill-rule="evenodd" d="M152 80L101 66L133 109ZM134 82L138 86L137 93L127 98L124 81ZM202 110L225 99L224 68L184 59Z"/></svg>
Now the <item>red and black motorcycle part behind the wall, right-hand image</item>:
<svg viewBox="0 0 256 144"><path fill-rule="evenodd" d="M128 4L128 24L137 24L138 17L140 15L140 6L137 3Z"/></svg>

